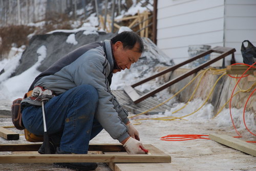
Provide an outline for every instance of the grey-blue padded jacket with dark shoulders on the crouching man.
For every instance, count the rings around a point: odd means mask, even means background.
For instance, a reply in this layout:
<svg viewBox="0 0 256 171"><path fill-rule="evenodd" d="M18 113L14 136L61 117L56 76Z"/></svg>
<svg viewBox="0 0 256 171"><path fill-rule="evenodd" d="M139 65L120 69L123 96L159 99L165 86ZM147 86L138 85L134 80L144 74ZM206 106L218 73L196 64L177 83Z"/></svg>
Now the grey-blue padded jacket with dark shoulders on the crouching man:
<svg viewBox="0 0 256 171"><path fill-rule="evenodd" d="M36 77L29 90L42 86L61 94L79 85L89 84L98 91L98 107L95 113L101 126L119 142L129 137L125 124L127 111L111 93L110 84L114 57L110 40L83 45Z"/></svg>

